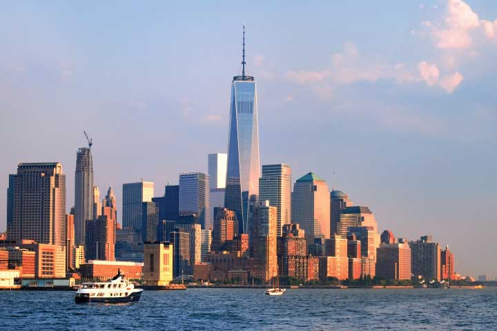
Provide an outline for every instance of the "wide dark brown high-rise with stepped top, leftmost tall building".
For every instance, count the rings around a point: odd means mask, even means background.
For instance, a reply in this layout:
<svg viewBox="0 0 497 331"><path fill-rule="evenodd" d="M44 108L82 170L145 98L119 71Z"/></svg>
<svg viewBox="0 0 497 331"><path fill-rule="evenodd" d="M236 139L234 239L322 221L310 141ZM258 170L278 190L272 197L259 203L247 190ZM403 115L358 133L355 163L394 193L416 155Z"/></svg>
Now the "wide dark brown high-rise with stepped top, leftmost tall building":
<svg viewBox="0 0 497 331"><path fill-rule="evenodd" d="M19 163L9 182L13 201L8 240L32 239L65 247L66 175L61 163Z"/></svg>

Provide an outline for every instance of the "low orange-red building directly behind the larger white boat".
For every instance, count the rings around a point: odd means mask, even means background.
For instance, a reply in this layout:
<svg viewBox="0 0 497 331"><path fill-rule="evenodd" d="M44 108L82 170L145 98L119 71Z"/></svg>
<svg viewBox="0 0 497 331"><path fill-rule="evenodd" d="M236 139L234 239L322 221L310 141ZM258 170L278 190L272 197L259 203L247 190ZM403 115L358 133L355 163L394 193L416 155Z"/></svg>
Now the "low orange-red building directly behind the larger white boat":
<svg viewBox="0 0 497 331"><path fill-rule="evenodd" d="M79 267L81 278L106 281L120 270L126 279L142 279L144 263L126 261L90 260Z"/></svg>

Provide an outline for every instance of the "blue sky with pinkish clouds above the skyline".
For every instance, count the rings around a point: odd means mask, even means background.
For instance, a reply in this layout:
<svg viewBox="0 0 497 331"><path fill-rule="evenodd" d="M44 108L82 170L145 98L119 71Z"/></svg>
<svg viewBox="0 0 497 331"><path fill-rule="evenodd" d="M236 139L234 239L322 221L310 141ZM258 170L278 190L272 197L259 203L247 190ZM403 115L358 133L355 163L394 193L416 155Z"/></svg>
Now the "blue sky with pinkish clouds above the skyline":
<svg viewBox="0 0 497 331"><path fill-rule="evenodd" d="M95 183L206 172L232 77L257 81L261 164L315 172L396 237L432 234L497 278L497 6L436 1L11 1L0 11L0 231L8 174L77 148ZM333 175L334 173L334 175ZM122 208L121 208L122 209ZM120 210L118 210L118 213Z"/></svg>

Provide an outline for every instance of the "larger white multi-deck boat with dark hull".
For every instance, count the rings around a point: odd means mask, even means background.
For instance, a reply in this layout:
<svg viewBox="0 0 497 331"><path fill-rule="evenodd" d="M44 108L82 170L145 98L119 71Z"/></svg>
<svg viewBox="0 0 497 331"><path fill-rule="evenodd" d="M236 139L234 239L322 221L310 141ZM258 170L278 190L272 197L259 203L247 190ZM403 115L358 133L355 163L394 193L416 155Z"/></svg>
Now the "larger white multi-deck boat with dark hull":
<svg viewBox="0 0 497 331"><path fill-rule="evenodd" d="M124 279L124 274L117 275L106 282L81 283L76 292L76 303L124 303L139 301L143 289L135 288L133 283Z"/></svg>

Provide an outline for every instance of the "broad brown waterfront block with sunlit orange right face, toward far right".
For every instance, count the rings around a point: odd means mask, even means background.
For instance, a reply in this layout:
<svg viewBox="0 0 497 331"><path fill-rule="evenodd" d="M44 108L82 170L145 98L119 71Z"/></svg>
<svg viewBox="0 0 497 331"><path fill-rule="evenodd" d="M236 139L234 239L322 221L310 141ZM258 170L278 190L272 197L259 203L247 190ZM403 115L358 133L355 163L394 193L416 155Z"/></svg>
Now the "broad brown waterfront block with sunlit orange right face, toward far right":
<svg viewBox="0 0 497 331"><path fill-rule="evenodd" d="M376 252L376 276L411 279L411 248L407 243L382 243Z"/></svg>

